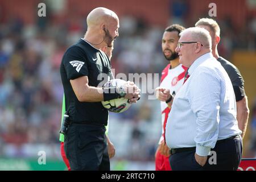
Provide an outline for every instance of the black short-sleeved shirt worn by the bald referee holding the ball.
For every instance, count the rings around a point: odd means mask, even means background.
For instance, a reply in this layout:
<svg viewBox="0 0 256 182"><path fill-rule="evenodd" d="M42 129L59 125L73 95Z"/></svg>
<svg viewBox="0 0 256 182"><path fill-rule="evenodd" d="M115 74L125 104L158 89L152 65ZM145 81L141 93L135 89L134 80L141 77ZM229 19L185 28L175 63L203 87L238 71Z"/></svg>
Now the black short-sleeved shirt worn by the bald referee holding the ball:
<svg viewBox="0 0 256 182"><path fill-rule="evenodd" d="M61 81L65 94L65 108L69 112L71 122L90 122L108 124L108 110L101 102L80 102L77 100L69 80L88 76L90 86L98 86L108 81L111 67L108 56L99 49L90 46L85 40L79 40L69 47L63 55L60 65ZM106 73L107 78L98 79L98 75ZM105 75L106 75L105 74Z"/></svg>

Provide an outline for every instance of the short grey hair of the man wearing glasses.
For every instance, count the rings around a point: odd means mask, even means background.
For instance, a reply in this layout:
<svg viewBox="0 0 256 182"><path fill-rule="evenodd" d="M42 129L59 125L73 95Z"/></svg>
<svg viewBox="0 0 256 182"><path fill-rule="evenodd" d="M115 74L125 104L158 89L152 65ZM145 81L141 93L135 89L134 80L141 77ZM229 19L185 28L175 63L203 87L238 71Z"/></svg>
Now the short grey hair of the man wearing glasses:
<svg viewBox="0 0 256 182"><path fill-rule="evenodd" d="M203 44L204 48L210 48L212 49L212 38L210 37L210 34L207 30L204 28L200 27L191 27L183 30L180 33L180 36L183 35L190 35L190 39L187 40L188 42L195 41L195 42L200 42Z"/></svg>

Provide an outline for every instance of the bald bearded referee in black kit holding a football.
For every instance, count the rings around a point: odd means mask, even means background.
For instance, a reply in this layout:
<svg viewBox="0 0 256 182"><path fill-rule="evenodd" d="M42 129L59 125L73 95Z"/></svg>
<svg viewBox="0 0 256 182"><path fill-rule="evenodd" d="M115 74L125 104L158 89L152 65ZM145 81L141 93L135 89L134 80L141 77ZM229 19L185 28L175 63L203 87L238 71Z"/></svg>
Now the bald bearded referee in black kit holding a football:
<svg viewBox="0 0 256 182"><path fill-rule="evenodd" d="M83 39L69 47L60 65L69 126L64 150L71 170L110 170L105 126L108 110L101 101L125 97L137 102L139 89L127 81L120 88L98 87L112 75L108 56L100 48L112 46L118 36L119 19L104 7L87 16L88 29ZM129 90L129 92L127 92Z"/></svg>

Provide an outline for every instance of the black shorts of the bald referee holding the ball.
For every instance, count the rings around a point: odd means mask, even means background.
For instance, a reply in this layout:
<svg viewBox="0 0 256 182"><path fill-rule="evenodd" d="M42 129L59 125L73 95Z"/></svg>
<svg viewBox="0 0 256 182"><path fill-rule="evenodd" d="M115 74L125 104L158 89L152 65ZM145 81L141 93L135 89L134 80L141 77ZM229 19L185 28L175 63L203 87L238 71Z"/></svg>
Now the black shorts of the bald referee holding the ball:
<svg viewBox="0 0 256 182"><path fill-rule="evenodd" d="M105 126L72 123L65 135L64 150L71 170L110 170Z"/></svg>

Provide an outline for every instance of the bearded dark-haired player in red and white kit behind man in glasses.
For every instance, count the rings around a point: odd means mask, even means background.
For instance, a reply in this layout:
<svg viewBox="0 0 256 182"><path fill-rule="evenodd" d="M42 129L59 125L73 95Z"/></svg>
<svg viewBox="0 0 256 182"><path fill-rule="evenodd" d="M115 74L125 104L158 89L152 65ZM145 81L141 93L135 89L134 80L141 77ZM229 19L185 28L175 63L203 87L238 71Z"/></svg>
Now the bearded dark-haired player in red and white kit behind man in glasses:
<svg viewBox="0 0 256 182"><path fill-rule="evenodd" d="M162 135L159 140L159 146L155 152L155 169L156 171L170 171L169 162L170 148L165 143L164 133L171 102L171 94L175 94L184 82L185 72L187 68L179 63L179 56L175 52L179 40L179 34L185 28L179 24L172 24L164 30L162 38L162 50L164 57L168 61L168 65L163 69L160 86L155 89L156 98L161 101L162 111ZM170 105L170 104L169 104Z"/></svg>

